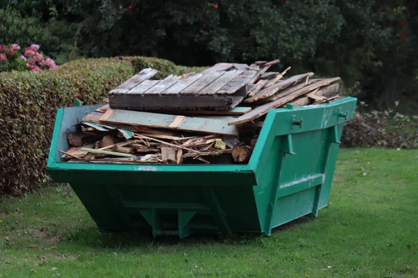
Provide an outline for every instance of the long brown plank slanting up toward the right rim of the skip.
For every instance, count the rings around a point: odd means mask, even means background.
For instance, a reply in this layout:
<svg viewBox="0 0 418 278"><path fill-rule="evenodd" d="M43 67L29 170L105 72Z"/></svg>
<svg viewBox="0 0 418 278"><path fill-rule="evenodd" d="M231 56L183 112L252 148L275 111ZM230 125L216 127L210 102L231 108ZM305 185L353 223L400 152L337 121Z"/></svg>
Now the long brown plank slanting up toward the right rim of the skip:
<svg viewBox="0 0 418 278"><path fill-rule="evenodd" d="M289 101L292 101L293 99L300 97L301 95L306 94L307 92L311 92L312 90L316 90L317 88L320 88L321 86L329 85L330 83L339 80L339 77L335 77L333 79L326 79L323 81L318 81L314 84L307 85L304 88L301 88L299 90L296 90L295 92L292 92L291 94L287 95L286 97L282 97L280 99L277 99L277 101L270 102L268 104L263 104L262 106L258 106L253 111L242 115L238 117L236 120L229 122L229 125L235 125L235 124L242 124L245 122L251 122L257 117L261 117L262 115L265 115L270 111L271 109L280 107Z"/></svg>

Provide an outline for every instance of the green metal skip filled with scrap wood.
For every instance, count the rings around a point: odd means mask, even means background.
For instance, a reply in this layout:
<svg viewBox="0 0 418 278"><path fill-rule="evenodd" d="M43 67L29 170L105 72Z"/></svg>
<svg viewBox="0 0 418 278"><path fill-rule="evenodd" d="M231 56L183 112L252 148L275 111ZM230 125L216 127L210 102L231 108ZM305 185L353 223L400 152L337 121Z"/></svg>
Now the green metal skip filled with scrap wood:
<svg viewBox="0 0 418 278"><path fill-rule="evenodd" d="M101 231L270 235L327 206L344 122L357 99L269 111L247 165L63 162L68 133L100 106L59 109L47 170L70 183Z"/></svg>

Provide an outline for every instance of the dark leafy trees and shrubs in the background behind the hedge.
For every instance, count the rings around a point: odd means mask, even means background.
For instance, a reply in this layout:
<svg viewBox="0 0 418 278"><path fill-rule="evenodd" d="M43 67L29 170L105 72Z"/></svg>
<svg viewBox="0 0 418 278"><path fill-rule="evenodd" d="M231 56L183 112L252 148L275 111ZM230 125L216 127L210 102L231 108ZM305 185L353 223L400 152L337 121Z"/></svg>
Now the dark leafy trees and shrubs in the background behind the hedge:
<svg viewBox="0 0 418 278"><path fill-rule="evenodd" d="M19 11L13 24L33 17L36 31L16 31L0 17L0 44L36 40L61 63L138 54L196 66L280 58L294 73L341 76L350 95L373 107L400 100L407 113L418 108L416 0L1 2L7 13Z"/></svg>

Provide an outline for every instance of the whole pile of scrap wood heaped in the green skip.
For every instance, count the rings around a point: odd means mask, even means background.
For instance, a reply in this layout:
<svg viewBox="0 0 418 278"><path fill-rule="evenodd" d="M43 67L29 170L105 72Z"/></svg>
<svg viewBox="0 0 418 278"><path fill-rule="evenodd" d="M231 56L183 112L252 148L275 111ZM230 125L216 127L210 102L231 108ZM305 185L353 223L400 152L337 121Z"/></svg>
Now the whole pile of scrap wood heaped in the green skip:
<svg viewBox="0 0 418 278"><path fill-rule="evenodd" d="M219 63L163 80L142 70L111 90L60 152L70 162L247 163L268 111L339 98L338 77L268 72L276 63Z"/></svg>

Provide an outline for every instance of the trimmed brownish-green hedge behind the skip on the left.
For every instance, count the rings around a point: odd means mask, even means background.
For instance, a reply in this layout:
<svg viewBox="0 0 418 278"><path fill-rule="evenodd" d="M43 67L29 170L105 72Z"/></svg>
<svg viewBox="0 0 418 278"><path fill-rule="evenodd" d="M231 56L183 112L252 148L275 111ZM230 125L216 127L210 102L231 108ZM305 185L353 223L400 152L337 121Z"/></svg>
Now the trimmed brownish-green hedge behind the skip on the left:
<svg viewBox="0 0 418 278"><path fill-rule="evenodd" d="M45 72L1 73L0 195L20 195L50 182L45 167L57 108L76 100L100 103L144 67L160 70L159 77L191 70L167 60L126 57L76 60Z"/></svg>

